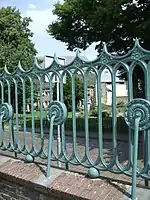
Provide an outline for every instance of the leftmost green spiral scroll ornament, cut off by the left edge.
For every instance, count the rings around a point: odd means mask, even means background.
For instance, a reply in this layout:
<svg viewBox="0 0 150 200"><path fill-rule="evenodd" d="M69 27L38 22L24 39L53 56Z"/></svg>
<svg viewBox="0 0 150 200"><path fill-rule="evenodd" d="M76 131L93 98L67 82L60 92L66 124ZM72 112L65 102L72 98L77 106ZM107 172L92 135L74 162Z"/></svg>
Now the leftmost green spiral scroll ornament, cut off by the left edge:
<svg viewBox="0 0 150 200"><path fill-rule="evenodd" d="M13 118L13 108L8 103L3 103L0 105L0 118L2 122L7 122Z"/></svg>

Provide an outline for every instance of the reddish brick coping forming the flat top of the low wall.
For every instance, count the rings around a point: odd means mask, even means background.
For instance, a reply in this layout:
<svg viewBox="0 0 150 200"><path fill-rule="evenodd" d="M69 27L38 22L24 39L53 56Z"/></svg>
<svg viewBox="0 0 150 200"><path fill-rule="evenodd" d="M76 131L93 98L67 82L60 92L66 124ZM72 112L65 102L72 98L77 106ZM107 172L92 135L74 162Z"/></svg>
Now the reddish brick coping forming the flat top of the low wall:
<svg viewBox="0 0 150 200"><path fill-rule="evenodd" d="M121 200L130 199L129 186L108 182L103 179L89 179L78 173L51 168L51 178L44 175L46 166L24 163L0 155L0 178L20 184L41 193L60 199Z"/></svg>

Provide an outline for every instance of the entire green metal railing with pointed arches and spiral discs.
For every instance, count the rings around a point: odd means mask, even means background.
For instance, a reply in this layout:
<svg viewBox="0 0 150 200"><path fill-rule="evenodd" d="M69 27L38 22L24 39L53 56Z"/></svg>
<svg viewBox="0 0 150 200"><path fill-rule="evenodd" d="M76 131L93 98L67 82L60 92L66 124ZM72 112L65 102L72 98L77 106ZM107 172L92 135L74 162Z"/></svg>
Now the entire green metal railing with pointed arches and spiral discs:
<svg viewBox="0 0 150 200"><path fill-rule="evenodd" d="M141 67L145 80L145 99L134 99L133 73L134 69ZM118 155L117 141L117 101L116 101L116 76L120 68L124 68L128 86L128 102L125 108L125 121L129 126L127 132L129 142L129 155L126 165L120 163ZM107 162L103 152L103 120L102 120L102 73L107 69L111 76L112 84L112 158ZM94 74L95 90L97 93L98 110L98 131L97 131L97 158L92 159L90 154L90 132L89 132L89 111L88 111L88 87L89 75ZM72 152L68 153L66 145L65 121L67 119L67 108L64 104L64 84L65 76L71 78L72 97ZM77 145L77 102L75 78L80 75L84 88L84 154L79 155ZM59 100L54 99L53 78L59 79L60 93ZM44 82L47 77L47 83ZM69 65L59 64L56 56L53 63L48 68L41 68L37 61L33 67L25 71L19 63L18 69L9 73L7 67L0 75L1 105L0 105L0 148L16 154L26 155L26 160L32 162L34 158L40 157L48 159L47 177L50 177L51 161L60 161L65 164L81 165L88 168L89 176L99 177L100 171L110 171L116 174L126 174L132 176L132 199L136 199L136 177L150 180L150 52L144 50L138 40L135 41L134 48L124 56L113 56L107 52L106 45L100 56L94 61L84 61L77 50L76 57ZM45 86L46 85L46 86ZM43 108L43 91L49 91L47 108ZM6 103L7 102L7 103ZM39 108L39 134L35 128L35 102ZM27 105L30 105L30 114L27 113ZM21 113L21 114L20 114ZM49 121L44 127L45 117ZM21 119L20 119L21 115ZM30 115L30 118L28 117ZM31 121L31 133L27 133L27 122ZM67 123L67 121L66 121ZM21 124L21 125L20 125ZM22 132L20 131L22 127ZM54 127L59 127L61 144L56 152L54 145ZM48 146L45 149L45 128L49 129ZM138 160L138 135L142 131L144 138L144 165L137 166ZM132 140L132 136L134 139ZM28 142L30 137L30 144ZM21 142L20 139L22 138Z"/></svg>

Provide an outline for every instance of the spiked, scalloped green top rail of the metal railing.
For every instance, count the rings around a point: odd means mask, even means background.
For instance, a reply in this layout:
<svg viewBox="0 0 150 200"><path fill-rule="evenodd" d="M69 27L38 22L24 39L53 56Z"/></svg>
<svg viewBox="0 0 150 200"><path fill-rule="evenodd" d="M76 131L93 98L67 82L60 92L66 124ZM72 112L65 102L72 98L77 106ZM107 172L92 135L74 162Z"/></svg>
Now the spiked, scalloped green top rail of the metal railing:
<svg viewBox="0 0 150 200"><path fill-rule="evenodd" d="M109 53L107 50L106 43L103 43L103 50L101 51L100 55L95 60L91 60L91 61L84 60L82 56L80 55L80 53L81 53L80 49L76 49L76 55L74 57L74 60L67 65L61 64L56 54L54 55L53 61L50 64L50 66L46 68L40 66L40 64L37 61L37 58L35 58L33 66L27 70L23 69L20 61L18 63L18 67L16 68L14 72L9 72L9 69L5 65L4 71L0 73L0 77L6 77L6 76L9 77L9 76L14 76L15 74L29 74L31 72L44 73L44 72L49 72L49 71L60 71L60 70L65 70L67 68L78 68L78 67L81 68L82 66L90 66L90 65L96 66L96 64L105 65L107 63L120 62L120 61L123 62L128 59L139 60L145 56L150 57L150 51L142 48L137 38L135 39L135 44L132 50L123 56L112 55L111 53Z"/></svg>

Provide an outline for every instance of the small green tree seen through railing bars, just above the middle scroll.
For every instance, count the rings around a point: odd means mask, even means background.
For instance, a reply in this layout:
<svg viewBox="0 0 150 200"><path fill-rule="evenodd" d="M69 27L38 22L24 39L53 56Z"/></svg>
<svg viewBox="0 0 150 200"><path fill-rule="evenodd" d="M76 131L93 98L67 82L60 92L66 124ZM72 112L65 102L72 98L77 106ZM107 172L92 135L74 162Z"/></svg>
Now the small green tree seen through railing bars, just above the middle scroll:
<svg viewBox="0 0 150 200"><path fill-rule="evenodd" d="M63 87L64 94L64 103L67 106L68 111L72 111L72 79L70 76L66 77L66 84ZM75 103L76 108L79 104L79 101L82 101L84 98L84 85L82 80L79 77L75 77ZM53 88L53 99L57 99L57 89L56 85Z"/></svg>

